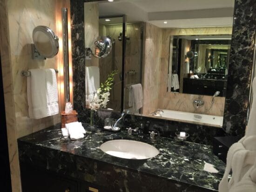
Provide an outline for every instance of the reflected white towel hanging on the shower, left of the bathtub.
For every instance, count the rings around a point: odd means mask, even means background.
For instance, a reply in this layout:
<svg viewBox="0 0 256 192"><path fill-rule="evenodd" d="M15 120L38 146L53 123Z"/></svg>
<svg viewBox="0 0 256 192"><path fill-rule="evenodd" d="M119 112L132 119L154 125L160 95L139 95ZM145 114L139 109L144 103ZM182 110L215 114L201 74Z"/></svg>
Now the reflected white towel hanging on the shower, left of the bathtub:
<svg viewBox="0 0 256 192"><path fill-rule="evenodd" d="M140 83L130 86L129 106L135 110L139 110L143 106L143 91Z"/></svg>

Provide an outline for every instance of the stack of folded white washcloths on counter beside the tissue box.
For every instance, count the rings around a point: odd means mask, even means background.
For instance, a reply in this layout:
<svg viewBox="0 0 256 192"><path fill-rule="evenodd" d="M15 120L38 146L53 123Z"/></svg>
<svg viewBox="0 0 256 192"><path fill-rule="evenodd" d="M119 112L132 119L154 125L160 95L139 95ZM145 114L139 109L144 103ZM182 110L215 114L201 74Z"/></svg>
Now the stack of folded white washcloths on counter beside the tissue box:
<svg viewBox="0 0 256 192"><path fill-rule="evenodd" d="M67 123L66 128L61 128L63 137L70 137L71 140L82 139L86 133L80 122Z"/></svg>

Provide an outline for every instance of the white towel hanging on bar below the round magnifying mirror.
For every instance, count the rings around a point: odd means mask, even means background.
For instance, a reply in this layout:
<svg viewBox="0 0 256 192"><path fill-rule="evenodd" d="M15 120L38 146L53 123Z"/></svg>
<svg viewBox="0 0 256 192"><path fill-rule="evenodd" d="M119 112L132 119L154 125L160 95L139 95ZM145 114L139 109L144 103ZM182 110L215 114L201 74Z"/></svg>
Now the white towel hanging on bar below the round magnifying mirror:
<svg viewBox="0 0 256 192"><path fill-rule="evenodd" d="M27 103L30 118L41 119L59 113L55 71L31 69L27 77Z"/></svg>

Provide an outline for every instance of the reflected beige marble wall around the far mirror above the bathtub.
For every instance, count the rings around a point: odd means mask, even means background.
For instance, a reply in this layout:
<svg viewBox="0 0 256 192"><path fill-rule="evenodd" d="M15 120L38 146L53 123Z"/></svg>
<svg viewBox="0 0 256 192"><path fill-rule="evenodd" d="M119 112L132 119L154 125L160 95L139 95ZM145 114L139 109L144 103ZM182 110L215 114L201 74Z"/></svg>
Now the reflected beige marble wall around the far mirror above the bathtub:
<svg viewBox="0 0 256 192"><path fill-rule="evenodd" d="M163 29L162 41L169 43L171 35L210 35L210 34L232 34L232 27L205 27L205 28L180 28L180 29ZM168 57L169 44L162 44L161 57L161 80L160 80L160 97L158 108L169 109L175 111L204 113L209 115L222 116L224 113L225 97L216 97L215 103L210 108L212 96L200 96L183 93L169 93L167 92L168 82ZM205 105L202 108L193 106L193 100L201 98Z"/></svg>

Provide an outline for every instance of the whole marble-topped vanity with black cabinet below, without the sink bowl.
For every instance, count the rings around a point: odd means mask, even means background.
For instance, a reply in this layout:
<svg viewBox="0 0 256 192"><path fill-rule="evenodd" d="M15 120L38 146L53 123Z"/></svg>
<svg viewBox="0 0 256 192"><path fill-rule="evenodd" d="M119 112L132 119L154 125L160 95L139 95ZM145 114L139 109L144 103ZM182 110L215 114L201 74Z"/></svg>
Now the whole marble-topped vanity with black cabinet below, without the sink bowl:
<svg viewBox="0 0 256 192"><path fill-rule="evenodd" d="M101 144L113 139L141 141L159 154L122 159L102 152ZM18 139L18 146L24 192L210 192L217 191L225 169L211 146L158 136L152 140L148 134L139 138L126 130L97 128L71 141L58 125Z"/></svg>

